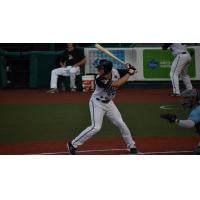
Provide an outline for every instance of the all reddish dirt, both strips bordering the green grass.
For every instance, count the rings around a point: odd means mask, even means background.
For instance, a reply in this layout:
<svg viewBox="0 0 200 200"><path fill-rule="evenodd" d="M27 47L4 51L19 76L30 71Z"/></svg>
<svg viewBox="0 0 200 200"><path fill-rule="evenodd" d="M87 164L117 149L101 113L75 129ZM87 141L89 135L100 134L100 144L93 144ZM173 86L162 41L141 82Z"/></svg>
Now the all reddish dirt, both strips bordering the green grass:
<svg viewBox="0 0 200 200"><path fill-rule="evenodd" d="M123 103L177 103L168 89L122 89L115 102ZM91 93L47 94L44 90L0 90L0 104L55 104L85 103ZM138 137L138 149L145 154L191 154L198 138L191 137ZM37 141L17 144L1 144L0 154L67 154L67 141ZM119 155L128 154L122 139L91 139L80 147L78 154Z"/></svg>

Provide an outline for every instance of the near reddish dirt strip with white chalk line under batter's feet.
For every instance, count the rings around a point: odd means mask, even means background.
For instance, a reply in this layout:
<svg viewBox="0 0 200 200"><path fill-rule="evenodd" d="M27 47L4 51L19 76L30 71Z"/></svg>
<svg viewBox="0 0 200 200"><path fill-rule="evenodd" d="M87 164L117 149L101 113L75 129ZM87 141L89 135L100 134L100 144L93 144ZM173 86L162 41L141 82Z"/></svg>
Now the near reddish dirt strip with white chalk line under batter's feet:
<svg viewBox="0 0 200 200"><path fill-rule="evenodd" d="M191 154L197 137L136 137L137 147L144 154ZM38 141L0 145L0 154L68 154L67 141ZM91 139L81 146L79 155L119 155L129 154L123 140Z"/></svg>

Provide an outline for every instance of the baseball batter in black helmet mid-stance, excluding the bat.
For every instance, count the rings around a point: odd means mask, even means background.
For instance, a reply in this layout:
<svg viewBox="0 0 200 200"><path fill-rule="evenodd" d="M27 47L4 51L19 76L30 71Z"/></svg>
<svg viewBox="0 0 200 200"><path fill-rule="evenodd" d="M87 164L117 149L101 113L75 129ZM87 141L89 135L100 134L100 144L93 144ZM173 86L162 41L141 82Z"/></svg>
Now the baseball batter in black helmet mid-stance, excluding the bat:
<svg viewBox="0 0 200 200"><path fill-rule="evenodd" d="M128 64L127 73L120 77L118 71L113 69L113 63L102 59L97 66L98 75L96 88L89 101L91 125L83 130L76 138L67 143L69 153L76 154L77 148L100 131L104 115L120 130L124 142L131 154L137 154L135 141L131 132L122 119L113 98L118 88L126 83L130 76L134 75L135 67Z"/></svg>

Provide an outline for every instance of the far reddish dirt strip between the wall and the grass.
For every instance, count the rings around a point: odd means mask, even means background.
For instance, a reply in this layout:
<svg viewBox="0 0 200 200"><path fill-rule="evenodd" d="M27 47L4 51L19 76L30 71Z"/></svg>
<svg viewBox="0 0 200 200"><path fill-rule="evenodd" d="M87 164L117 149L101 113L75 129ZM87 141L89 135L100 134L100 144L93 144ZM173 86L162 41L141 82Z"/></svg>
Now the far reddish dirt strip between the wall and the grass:
<svg viewBox="0 0 200 200"><path fill-rule="evenodd" d="M121 89L115 102L122 103L175 103L177 98L168 96L169 89ZM85 103L91 93L60 92L47 94L45 90L0 90L1 104Z"/></svg>

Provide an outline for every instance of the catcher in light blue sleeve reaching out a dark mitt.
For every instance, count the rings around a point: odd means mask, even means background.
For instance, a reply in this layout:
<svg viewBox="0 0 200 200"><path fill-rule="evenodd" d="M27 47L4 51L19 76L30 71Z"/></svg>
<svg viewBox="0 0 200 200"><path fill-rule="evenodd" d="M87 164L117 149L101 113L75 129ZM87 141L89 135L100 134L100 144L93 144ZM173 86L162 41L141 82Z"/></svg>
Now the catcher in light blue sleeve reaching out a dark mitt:
<svg viewBox="0 0 200 200"><path fill-rule="evenodd" d="M199 143L194 149L194 154L200 155L200 97L195 89L185 90L181 93L181 105L183 108L191 109L188 119L178 119L175 114L162 114L161 118L168 120L170 123L175 123L182 128L196 128L199 135Z"/></svg>

